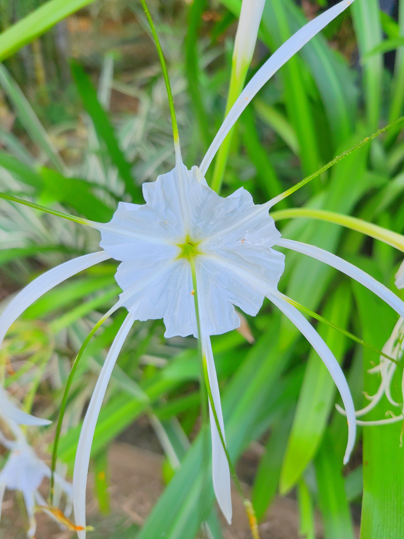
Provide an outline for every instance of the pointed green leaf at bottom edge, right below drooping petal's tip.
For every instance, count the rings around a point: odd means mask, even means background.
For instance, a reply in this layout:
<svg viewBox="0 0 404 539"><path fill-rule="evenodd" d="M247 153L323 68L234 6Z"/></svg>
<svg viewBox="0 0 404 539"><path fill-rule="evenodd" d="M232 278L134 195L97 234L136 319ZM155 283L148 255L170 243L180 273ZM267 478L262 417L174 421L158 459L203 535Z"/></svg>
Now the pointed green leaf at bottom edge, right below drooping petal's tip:
<svg viewBox="0 0 404 539"><path fill-rule="evenodd" d="M341 464L327 431L315 460L318 503L323 517L324 539L353 539L354 537ZM368 539L370 537L368 536Z"/></svg>

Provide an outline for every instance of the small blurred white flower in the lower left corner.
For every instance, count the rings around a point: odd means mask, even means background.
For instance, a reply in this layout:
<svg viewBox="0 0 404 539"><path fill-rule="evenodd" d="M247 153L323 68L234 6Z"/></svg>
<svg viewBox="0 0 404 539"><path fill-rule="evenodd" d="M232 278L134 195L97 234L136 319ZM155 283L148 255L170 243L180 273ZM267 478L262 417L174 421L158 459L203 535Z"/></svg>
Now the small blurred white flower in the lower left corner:
<svg viewBox="0 0 404 539"><path fill-rule="evenodd" d="M4 416L4 419L7 418ZM23 495L29 521L27 537L33 538L37 528L36 509L38 506L42 509L47 507L47 503L38 489L44 478L50 478L51 470L34 453L18 425L10 420L7 423L16 439L9 440L0 432L0 443L10 451L7 461L0 471L0 517L5 489L18 490ZM59 474L55 474L55 483L66 494L65 514L68 516L72 509L72 485L62 479Z"/></svg>

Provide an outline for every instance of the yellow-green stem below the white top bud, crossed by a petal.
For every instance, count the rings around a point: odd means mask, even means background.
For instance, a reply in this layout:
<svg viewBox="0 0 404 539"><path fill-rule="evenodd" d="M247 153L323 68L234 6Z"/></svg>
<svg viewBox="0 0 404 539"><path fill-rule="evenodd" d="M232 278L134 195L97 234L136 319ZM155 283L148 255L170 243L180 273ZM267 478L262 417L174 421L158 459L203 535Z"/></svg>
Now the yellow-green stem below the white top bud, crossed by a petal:
<svg viewBox="0 0 404 539"><path fill-rule="evenodd" d="M243 89L247 71L248 65L243 66L240 69L240 73L237 74L236 61L233 60L232 73L230 77L230 85L226 102L225 118ZM228 135L226 136L225 140L221 143L216 160L214 162L211 188L217 193L220 193L221 185L223 182L223 176L225 174L230 144L232 142L233 130L234 127L228 132Z"/></svg>

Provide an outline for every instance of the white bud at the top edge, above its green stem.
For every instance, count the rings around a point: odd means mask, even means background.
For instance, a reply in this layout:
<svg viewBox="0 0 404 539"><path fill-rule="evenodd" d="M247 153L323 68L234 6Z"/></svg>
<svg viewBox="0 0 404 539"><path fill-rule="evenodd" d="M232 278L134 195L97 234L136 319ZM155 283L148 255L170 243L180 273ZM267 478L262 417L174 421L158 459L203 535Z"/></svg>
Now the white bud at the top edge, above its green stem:
<svg viewBox="0 0 404 539"><path fill-rule="evenodd" d="M242 1L233 50L236 77L247 71L253 59L264 5L265 0Z"/></svg>

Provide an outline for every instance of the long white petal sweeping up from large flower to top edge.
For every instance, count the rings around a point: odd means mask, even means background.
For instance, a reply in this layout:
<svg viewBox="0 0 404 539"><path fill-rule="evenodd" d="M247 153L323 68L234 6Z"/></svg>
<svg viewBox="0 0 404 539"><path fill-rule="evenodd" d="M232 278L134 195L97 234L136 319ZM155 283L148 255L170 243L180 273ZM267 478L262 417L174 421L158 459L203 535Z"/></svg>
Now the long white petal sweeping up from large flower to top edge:
<svg viewBox="0 0 404 539"><path fill-rule="evenodd" d="M262 86L283 66L303 45L308 43L318 32L320 32L331 20L342 13L354 0L343 0L324 11L321 15L309 23L305 24L291 38L277 49L266 63L255 73L254 77L248 82L247 86L241 92L239 98L229 110L224 122L220 126L217 135L214 137L211 146L208 148L203 161L200 164L200 171L205 176L206 171L211 164L213 157L218 151L220 144L225 140L229 130L234 126L243 110L253 99L254 95L260 91Z"/></svg>

